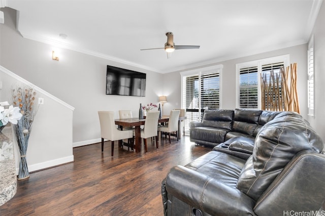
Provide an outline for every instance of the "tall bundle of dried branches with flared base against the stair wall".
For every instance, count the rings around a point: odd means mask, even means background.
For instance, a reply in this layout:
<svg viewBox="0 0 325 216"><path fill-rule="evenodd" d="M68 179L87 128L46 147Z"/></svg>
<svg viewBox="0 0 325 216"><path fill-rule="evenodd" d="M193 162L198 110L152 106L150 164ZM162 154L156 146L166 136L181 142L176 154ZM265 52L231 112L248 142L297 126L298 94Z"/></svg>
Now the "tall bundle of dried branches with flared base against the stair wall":
<svg viewBox="0 0 325 216"><path fill-rule="evenodd" d="M18 106L22 114L21 119L17 124L14 124L14 132L20 152L18 180L29 178L26 151L32 123L38 110L34 103L35 96L35 90L30 87L12 89L13 105Z"/></svg>

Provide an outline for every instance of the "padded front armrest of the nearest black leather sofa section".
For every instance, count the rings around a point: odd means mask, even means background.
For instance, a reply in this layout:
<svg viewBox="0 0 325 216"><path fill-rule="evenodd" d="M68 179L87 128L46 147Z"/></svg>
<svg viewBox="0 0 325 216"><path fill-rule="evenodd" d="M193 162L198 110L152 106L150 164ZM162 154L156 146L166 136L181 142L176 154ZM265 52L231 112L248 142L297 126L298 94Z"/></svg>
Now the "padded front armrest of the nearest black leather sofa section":
<svg viewBox="0 0 325 216"><path fill-rule="evenodd" d="M166 178L168 194L211 215L255 215L255 201L236 187L196 170L173 167Z"/></svg>

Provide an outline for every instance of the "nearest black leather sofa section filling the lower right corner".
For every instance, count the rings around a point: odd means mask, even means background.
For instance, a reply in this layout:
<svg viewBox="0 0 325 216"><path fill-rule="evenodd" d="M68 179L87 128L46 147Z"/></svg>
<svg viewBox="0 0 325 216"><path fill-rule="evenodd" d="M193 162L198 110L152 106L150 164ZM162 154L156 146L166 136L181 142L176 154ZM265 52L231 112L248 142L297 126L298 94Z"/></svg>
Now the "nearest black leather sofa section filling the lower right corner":
<svg viewBox="0 0 325 216"><path fill-rule="evenodd" d="M258 129L253 146L241 142L247 137L231 138L237 141L228 148L235 148L222 151L216 146L185 166L173 167L161 183L165 215L324 213L324 143L298 113L273 114L256 120L266 123ZM229 116L223 120L229 120L223 125L230 125ZM247 152L252 149L249 157L235 154L246 147Z"/></svg>

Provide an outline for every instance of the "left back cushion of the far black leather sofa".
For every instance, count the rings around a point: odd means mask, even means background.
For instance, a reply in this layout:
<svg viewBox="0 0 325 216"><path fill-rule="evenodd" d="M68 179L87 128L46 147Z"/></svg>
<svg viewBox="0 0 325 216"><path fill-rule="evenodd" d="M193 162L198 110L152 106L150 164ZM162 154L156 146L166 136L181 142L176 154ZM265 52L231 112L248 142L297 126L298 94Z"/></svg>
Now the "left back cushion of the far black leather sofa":
<svg viewBox="0 0 325 216"><path fill-rule="evenodd" d="M231 131L234 110L204 110L202 123L207 127L216 127Z"/></svg>

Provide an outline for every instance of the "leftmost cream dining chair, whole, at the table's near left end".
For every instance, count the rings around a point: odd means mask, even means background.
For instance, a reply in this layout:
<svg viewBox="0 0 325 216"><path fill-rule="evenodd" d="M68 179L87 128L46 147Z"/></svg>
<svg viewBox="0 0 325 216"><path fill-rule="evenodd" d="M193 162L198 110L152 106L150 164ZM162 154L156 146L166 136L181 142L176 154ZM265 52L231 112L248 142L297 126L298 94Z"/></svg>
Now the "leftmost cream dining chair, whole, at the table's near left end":
<svg viewBox="0 0 325 216"><path fill-rule="evenodd" d="M119 131L115 125L113 111L98 111L101 124L102 152L104 139L112 142L112 156L114 154L114 141L127 139L128 146L133 146L133 131Z"/></svg>

